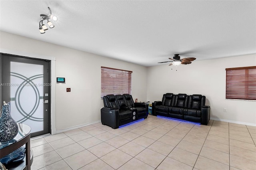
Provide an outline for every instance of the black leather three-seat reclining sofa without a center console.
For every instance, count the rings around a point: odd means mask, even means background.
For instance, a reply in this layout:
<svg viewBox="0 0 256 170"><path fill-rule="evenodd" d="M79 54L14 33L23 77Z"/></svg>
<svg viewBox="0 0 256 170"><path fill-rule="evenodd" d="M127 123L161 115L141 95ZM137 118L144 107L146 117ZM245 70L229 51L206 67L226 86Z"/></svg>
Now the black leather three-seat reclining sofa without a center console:
<svg viewBox="0 0 256 170"><path fill-rule="evenodd" d="M152 114L207 125L210 121L210 106L205 105L205 96L166 93L162 101L152 103Z"/></svg>

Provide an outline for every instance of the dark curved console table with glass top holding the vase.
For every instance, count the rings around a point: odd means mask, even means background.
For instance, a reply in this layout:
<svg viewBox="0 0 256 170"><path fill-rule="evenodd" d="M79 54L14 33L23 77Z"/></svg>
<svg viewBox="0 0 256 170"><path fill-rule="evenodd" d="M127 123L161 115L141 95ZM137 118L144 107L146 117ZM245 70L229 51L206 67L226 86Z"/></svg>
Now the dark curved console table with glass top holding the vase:
<svg viewBox="0 0 256 170"><path fill-rule="evenodd" d="M0 158L12 153L14 150L20 148L26 144L26 156L25 158L16 163L9 163L6 165L8 170L30 170L30 166L33 162L33 152L30 150L30 130L31 128L28 125L18 123L19 132L14 138L15 142L11 143L8 146L0 148ZM1 142L0 142L1 144Z"/></svg>

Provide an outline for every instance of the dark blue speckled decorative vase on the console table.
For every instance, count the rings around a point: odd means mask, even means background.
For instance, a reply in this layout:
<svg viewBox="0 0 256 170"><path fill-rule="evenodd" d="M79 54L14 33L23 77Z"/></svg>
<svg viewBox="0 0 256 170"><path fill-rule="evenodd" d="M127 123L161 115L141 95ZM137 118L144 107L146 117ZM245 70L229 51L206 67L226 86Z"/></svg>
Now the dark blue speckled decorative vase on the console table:
<svg viewBox="0 0 256 170"><path fill-rule="evenodd" d="M7 142L18 134L17 123L10 115L10 103L2 107L2 116L0 117L0 142Z"/></svg>

